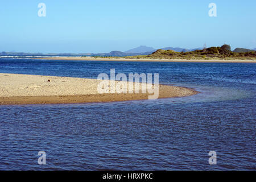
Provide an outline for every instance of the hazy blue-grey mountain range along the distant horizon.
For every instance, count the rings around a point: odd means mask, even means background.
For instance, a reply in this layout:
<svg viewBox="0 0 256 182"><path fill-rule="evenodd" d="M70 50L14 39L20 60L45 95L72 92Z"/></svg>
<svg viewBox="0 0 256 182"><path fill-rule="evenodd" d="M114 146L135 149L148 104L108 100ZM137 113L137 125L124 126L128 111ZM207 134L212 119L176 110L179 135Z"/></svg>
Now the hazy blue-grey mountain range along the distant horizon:
<svg viewBox="0 0 256 182"><path fill-rule="evenodd" d="M180 47L164 47L159 48L163 50L172 50L176 52L189 52L195 50L202 50L203 48L186 49ZM157 51L153 47L139 46L128 51L111 51L109 53L26 53L26 52L0 52L0 56L137 56L137 55L150 55ZM256 51L256 48L253 49ZM236 48L233 52L250 52L252 49Z"/></svg>

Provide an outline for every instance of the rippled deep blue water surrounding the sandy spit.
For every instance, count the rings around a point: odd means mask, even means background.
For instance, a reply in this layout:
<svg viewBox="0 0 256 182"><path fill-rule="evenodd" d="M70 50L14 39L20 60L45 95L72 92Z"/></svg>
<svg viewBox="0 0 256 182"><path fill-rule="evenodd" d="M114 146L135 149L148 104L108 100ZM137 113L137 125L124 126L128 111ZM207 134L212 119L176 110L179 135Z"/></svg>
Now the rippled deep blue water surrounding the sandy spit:
<svg viewBox="0 0 256 182"><path fill-rule="evenodd" d="M256 64L0 59L0 73L159 73L199 90L156 101L0 106L0 170L255 170ZM46 165L38 152L46 151ZM209 151L217 164L209 165Z"/></svg>

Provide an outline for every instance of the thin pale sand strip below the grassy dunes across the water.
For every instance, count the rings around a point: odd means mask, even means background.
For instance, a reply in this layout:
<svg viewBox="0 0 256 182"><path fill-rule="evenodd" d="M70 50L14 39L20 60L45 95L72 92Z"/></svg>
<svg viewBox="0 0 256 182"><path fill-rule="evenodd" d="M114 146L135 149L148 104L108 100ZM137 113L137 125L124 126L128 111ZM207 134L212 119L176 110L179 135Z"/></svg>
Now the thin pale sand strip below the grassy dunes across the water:
<svg viewBox="0 0 256 182"><path fill-rule="evenodd" d="M104 58L104 57L75 57L75 56L53 56L33 57L40 60L71 60L71 61L130 61L130 62L166 62L166 63L256 63L256 60L185 60L185 59L125 59L125 58Z"/></svg>

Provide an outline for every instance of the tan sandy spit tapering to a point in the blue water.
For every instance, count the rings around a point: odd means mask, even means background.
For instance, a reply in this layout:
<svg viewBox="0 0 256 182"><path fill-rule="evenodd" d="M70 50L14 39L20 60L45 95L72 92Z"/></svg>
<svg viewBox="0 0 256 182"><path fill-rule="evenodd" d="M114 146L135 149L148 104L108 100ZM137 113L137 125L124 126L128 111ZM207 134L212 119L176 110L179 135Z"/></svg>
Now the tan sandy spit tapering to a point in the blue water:
<svg viewBox="0 0 256 182"><path fill-rule="evenodd" d="M89 78L0 73L0 105L147 100L148 95L152 95L141 93L141 86L140 93L137 94L98 94L99 82L101 81ZM188 88L159 85L159 98L184 97L196 93L195 90Z"/></svg>

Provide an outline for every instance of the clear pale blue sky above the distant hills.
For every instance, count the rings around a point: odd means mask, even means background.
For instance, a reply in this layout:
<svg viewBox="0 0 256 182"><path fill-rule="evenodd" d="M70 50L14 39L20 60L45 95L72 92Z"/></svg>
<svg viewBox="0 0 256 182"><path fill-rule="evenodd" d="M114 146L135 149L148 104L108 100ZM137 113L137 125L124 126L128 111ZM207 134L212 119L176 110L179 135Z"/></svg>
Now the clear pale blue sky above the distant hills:
<svg viewBox="0 0 256 182"><path fill-rule="evenodd" d="M38 4L46 4L46 17ZM208 15L216 3L217 17ZM9 0L0 52L86 53L138 46L256 48L255 0Z"/></svg>

